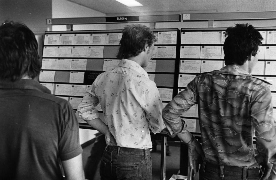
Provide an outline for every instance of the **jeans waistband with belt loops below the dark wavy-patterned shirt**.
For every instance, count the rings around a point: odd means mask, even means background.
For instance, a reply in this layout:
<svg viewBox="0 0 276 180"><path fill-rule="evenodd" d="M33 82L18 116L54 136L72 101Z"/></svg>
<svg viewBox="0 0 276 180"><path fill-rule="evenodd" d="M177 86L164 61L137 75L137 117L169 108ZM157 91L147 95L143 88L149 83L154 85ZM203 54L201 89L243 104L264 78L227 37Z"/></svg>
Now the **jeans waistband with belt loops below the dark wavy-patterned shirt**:
<svg viewBox="0 0 276 180"><path fill-rule="evenodd" d="M259 168L212 164L204 161L199 170L200 180L259 180Z"/></svg>

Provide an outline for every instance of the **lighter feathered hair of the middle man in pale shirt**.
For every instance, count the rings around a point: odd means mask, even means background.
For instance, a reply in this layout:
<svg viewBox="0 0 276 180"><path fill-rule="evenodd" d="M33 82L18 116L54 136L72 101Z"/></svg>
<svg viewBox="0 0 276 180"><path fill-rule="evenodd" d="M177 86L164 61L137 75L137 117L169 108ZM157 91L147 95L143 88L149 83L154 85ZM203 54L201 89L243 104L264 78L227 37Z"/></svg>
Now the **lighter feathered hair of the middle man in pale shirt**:
<svg viewBox="0 0 276 180"><path fill-rule="evenodd" d="M149 27L141 24L128 25L122 30L122 39L116 57L118 59L135 57L145 49L146 44L152 46L155 41L156 37Z"/></svg>

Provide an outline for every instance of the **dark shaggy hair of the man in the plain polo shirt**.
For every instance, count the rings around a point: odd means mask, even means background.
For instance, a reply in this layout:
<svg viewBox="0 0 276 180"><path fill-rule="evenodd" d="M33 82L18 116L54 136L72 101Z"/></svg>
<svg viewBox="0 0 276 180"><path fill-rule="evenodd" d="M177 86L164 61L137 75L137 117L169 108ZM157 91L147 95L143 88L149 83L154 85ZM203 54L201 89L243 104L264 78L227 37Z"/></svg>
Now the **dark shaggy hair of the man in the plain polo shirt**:
<svg viewBox="0 0 276 180"><path fill-rule="evenodd" d="M41 70L34 33L19 22L0 26L0 79L16 81L23 76L34 79Z"/></svg>

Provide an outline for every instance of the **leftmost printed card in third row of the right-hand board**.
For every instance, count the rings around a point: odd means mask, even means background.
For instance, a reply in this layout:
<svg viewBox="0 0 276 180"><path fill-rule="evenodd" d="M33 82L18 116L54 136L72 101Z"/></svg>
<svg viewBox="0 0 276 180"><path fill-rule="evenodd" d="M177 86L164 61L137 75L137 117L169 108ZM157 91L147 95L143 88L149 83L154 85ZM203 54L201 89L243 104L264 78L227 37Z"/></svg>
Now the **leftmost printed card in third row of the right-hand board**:
<svg viewBox="0 0 276 180"><path fill-rule="evenodd" d="M180 73L200 73L200 60L180 60Z"/></svg>

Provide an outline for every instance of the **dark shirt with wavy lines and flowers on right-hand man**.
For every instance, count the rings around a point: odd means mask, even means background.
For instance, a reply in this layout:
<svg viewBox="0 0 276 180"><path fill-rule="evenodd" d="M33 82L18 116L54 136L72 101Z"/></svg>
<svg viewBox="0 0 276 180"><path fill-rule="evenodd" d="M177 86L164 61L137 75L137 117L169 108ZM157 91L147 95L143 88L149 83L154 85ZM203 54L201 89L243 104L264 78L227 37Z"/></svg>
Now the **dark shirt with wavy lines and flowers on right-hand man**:
<svg viewBox="0 0 276 180"><path fill-rule="evenodd" d="M187 132L181 115L195 104L198 104L202 149L208 162L258 166L254 158L254 134L258 152L266 160L276 162L269 83L236 65L197 75L163 110L170 134L181 131L179 126Z"/></svg>

